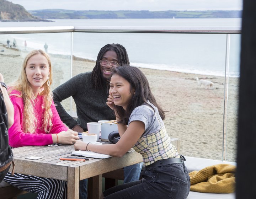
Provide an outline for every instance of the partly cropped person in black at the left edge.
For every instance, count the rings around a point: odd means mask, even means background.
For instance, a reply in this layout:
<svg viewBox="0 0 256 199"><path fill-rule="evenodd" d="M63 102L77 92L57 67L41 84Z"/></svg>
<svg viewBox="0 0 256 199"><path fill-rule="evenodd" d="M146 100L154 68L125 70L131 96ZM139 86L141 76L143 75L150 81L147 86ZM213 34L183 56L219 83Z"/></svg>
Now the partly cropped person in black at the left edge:
<svg viewBox="0 0 256 199"><path fill-rule="evenodd" d="M8 129L14 123L14 107L7 93L4 77L0 73L0 183L11 167L13 154L9 145Z"/></svg>

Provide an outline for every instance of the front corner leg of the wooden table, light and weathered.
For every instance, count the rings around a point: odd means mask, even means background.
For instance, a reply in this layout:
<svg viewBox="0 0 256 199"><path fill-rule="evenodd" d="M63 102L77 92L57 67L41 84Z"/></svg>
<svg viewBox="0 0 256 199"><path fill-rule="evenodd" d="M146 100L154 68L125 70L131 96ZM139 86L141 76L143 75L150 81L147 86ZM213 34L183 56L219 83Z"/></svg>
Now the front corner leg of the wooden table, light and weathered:
<svg viewBox="0 0 256 199"><path fill-rule="evenodd" d="M68 166L68 199L79 199L79 166Z"/></svg>

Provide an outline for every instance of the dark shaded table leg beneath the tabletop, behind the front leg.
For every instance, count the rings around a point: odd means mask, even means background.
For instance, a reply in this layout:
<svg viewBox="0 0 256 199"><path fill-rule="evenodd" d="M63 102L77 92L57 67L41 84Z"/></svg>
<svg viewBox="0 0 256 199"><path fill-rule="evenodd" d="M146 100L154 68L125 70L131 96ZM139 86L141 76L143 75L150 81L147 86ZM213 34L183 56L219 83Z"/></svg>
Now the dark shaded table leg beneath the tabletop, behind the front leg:
<svg viewBox="0 0 256 199"><path fill-rule="evenodd" d="M99 199L102 194L102 174L88 179L88 198Z"/></svg>

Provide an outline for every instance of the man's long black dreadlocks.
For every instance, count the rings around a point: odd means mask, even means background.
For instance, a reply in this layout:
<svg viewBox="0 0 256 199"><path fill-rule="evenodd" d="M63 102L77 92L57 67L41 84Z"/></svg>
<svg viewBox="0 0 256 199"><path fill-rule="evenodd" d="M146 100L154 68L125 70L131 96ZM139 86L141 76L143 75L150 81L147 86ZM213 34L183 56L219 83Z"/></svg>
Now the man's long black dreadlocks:
<svg viewBox="0 0 256 199"><path fill-rule="evenodd" d="M92 82L93 88L102 88L102 76L101 76L101 65L100 60L107 51L114 51L117 54L119 65L129 65L129 58L126 49L121 44L107 44L100 49L98 53L96 64L92 70Z"/></svg>

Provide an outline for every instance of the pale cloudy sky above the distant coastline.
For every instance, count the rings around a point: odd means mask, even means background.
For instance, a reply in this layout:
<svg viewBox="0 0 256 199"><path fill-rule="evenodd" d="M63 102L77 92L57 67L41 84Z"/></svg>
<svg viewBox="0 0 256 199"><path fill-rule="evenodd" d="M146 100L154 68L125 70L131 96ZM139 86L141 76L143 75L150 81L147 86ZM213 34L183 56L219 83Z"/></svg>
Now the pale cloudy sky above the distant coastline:
<svg viewBox="0 0 256 199"><path fill-rule="evenodd" d="M26 10L242 10L242 0L9 0Z"/></svg>

